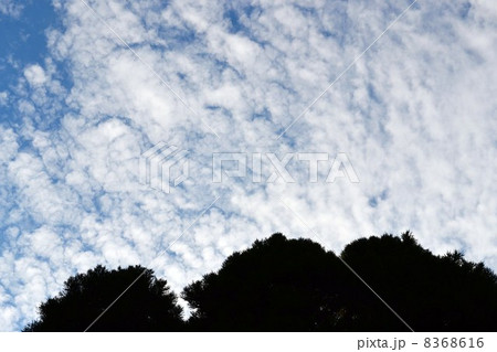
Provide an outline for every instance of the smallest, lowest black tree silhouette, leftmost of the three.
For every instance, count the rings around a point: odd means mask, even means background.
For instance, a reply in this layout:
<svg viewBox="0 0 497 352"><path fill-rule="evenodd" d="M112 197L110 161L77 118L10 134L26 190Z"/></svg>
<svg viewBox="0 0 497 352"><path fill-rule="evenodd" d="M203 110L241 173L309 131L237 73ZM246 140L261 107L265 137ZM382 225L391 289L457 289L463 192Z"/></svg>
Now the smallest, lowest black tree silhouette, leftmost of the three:
<svg viewBox="0 0 497 352"><path fill-rule="evenodd" d="M138 276L89 331L181 330L182 309L166 280L141 266L112 271L97 266L67 279L57 297L40 306L40 320L24 331L84 331Z"/></svg>

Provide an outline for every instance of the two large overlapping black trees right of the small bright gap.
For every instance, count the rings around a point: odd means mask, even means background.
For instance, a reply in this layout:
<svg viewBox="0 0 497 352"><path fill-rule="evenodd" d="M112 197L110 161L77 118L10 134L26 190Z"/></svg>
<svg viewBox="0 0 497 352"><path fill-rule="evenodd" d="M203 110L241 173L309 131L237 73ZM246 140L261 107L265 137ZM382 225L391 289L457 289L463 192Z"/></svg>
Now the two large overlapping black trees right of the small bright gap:
<svg viewBox="0 0 497 352"><path fill-rule="evenodd" d="M462 254L434 256L410 232L361 238L347 263L415 331L496 331L497 280ZM184 288L197 331L409 331L331 252L275 234Z"/></svg>

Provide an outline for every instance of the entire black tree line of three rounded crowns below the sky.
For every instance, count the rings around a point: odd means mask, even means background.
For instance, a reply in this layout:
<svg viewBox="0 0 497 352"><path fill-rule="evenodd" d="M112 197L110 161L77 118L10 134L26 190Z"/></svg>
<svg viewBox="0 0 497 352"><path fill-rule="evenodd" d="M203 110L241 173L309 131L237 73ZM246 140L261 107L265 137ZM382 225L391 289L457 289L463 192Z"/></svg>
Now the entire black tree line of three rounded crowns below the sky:
<svg viewBox="0 0 497 352"><path fill-rule="evenodd" d="M310 239L255 241L183 289L188 320L152 270L97 266L24 331L84 331L138 276L89 331L497 331L497 276L458 252L435 256L409 232L355 241L340 257Z"/></svg>

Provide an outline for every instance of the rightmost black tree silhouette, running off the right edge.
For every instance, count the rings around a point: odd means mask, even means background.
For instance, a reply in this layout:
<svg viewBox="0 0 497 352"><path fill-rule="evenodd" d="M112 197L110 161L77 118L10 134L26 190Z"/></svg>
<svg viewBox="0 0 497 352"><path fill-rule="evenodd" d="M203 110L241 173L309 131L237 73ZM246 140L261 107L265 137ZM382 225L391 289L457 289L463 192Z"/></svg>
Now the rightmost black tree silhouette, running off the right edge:
<svg viewBox="0 0 497 352"><path fill-rule="evenodd" d="M497 277L458 252L435 256L406 232L355 241L341 258L415 331L497 331ZM405 329L377 297L353 291L349 329Z"/></svg>

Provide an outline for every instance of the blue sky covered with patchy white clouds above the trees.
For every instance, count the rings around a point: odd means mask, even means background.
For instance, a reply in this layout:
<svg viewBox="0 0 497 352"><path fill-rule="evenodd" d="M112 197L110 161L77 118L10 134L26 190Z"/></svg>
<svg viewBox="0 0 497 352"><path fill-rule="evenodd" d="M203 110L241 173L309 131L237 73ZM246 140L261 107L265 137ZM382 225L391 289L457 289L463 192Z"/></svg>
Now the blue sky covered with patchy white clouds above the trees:
<svg viewBox="0 0 497 352"><path fill-rule="evenodd" d="M493 2L1 0L0 330L97 264L179 294L275 232L496 270Z"/></svg>

